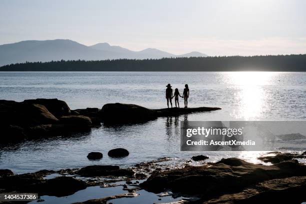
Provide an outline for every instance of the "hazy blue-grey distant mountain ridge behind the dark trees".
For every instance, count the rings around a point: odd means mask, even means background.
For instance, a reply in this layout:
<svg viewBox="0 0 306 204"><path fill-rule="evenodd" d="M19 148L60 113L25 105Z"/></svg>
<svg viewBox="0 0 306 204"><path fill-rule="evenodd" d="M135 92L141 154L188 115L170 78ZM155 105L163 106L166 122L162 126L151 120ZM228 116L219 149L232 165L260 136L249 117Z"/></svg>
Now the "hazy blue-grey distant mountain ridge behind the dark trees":
<svg viewBox="0 0 306 204"><path fill-rule="evenodd" d="M163 57L207 56L200 52L175 55L155 48L133 51L108 43L97 43L91 46L80 44L69 39L25 40L0 45L0 66L25 61L52 60L104 60L104 59L158 59Z"/></svg>

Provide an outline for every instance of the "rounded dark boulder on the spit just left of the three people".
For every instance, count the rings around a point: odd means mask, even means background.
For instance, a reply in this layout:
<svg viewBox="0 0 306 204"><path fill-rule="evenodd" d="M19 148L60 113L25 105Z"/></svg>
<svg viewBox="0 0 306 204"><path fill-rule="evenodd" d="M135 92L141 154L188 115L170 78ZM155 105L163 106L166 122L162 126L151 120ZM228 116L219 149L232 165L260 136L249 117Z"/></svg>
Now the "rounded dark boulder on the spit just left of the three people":
<svg viewBox="0 0 306 204"><path fill-rule="evenodd" d="M99 111L104 123L133 123L156 119L155 110L134 104L108 103Z"/></svg>

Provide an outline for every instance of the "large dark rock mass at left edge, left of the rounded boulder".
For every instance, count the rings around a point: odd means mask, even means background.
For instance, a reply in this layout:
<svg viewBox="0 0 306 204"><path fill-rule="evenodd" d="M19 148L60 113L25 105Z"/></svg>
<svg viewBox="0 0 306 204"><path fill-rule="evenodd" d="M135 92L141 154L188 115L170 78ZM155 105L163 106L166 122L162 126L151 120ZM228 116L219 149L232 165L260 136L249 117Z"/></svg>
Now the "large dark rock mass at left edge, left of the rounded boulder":
<svg viewBox="0 0 306 204"><path fill-rule="evenodd" d="M89 108L95 111L97 108ZM100 126L96 117L71 115L66 102L58 99L0 100L0 143L89 131Z"/></svg>

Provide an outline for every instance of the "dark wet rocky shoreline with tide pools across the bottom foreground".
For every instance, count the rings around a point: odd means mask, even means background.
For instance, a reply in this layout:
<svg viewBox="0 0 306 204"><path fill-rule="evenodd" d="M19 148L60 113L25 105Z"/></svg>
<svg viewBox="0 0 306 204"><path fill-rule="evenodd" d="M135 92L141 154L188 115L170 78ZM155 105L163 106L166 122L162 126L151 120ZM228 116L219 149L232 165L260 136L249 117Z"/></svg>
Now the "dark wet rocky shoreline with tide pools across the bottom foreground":
<svg viewBox="0 0 306 204"><path fill-rule="evenodd" d="M89 165L76 169L40 170L34 173L14 174L0 169L0 193L38 192L39 196L67 196L88 186L113 187L118 180L126 181L120 193L79 203L106 203L121 197L137 196L144 189L154 193L169 190L176 196L192 197L177 203L301 203L306 200L306 165L295 158L306 158L304 153L272 152L272 165L249 163L239 158L223 158L215 163L180 168L164 168L158 163L171 158L160 158L128 168L116 165ZM290 159L283 160L287 156ZM263 159L263 158L259 158ZM149 169L147 173L141 173ZM57 177L45 176L57 173ZM147 178L147 176L149 176ZM104 179L106 178L106 179ZM142 180L144 182L132 182ZM194 197L196 199L194 199Z"/></svg>

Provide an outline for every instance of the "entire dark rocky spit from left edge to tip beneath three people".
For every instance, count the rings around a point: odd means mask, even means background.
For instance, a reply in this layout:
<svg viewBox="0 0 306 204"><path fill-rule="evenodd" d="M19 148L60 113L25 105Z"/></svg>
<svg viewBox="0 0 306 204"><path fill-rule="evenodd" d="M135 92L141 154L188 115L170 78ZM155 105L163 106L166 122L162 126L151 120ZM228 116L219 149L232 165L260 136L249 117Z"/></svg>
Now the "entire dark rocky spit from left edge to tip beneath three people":
<svg viewBox="0 0 306 204"><path fill-rule="evenodd" d="M103 124L146 122L172 116L217 110L217 107L148 109L134 104L108 103L99 108L71 110L56 98L28 99L22 102L0 100L0 143L54 135L88 132Z"/></svg>

